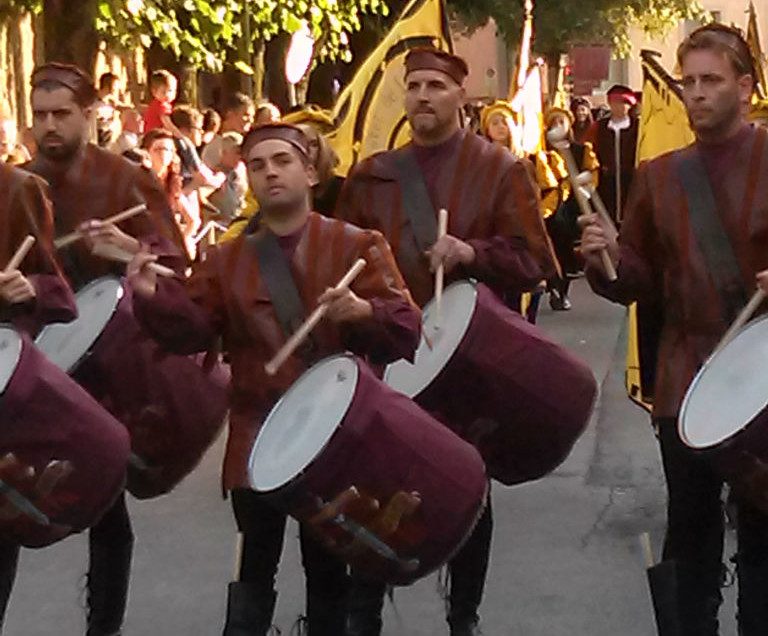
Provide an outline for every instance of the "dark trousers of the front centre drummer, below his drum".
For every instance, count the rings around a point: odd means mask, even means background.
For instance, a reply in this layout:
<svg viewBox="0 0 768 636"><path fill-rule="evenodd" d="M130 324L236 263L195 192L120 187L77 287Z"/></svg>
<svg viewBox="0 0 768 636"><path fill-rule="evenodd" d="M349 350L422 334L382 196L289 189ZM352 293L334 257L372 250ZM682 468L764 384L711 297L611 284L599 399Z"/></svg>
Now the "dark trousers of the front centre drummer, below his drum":
<svg viewBox="0 0 768 636"><path fill-rule="evenodd" d="M240 582L248 586L252 603L268 606L271 621L286 516L246 489L232 491L232 507L238 530L243 534ZM340 636L345 615L347 566L330 555L303 525L299 541L306 576L309 634Z"/></svg>

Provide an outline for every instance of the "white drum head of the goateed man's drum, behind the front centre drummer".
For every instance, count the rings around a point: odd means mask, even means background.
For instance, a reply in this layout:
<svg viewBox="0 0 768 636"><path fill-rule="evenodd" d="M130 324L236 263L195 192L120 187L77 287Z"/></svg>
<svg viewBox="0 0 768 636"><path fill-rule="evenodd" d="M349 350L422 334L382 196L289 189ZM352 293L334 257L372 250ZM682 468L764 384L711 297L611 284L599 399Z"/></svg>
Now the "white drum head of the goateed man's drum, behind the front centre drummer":
<svg viewBox="0 0 768 636"><path fill-rule="evenodd" d="M422 335L413 364L407 360L393 362L384 372L384 382L408 397L415 397L426 389L459 348L472 322L476 304L477 289L473 283L453 283L443 293L442 324L438 329L435 301L427 303L422 311L422 324L432 348Z"/></svg>

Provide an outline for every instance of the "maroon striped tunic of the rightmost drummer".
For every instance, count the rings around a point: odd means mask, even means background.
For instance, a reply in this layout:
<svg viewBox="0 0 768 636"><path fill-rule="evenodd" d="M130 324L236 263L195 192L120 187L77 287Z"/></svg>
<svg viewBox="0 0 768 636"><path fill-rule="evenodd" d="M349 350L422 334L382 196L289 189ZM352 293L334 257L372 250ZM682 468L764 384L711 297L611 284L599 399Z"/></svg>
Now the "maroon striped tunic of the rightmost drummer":
<svg viewBox="0 0 768 636"><path fill-rule="evenodd" d="M619 278L588 268L592 287L628 304L663 303L654 415L675 417L688 385L728 324L694 235L678 162L701 153L718 213L736 254L745 295L768 269L768 131L745 127L724 144L693 145L644 163L635 175L619 236Z"/></svg>

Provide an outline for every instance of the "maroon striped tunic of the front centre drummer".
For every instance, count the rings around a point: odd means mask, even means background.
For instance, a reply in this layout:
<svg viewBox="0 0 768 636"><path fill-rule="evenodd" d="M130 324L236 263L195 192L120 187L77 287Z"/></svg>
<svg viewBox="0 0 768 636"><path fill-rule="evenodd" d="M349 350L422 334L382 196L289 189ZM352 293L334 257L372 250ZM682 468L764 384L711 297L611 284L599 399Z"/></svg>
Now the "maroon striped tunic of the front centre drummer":
<svg viewBox="0 0 768 636"><path fill-rule="evenodd" d="M144 328L176 353L202 351L217 336L223 339L232 368L223 476L227 489L247 487L248 457L264 417L307 368L307 359L294 354L275 376L264 370L286 337L259 271L254 238L241 235L216 246L185 284L163 279L153 299L135 300ZM312 333L316 346L312 360L344 349L367 355L377 364L413 355L420 314L378 232L312 213L295 236L281 239L281 246L307 315L358 258L368 262L352 289L370 300L373 318L342 326L321 321Z"/></svg>

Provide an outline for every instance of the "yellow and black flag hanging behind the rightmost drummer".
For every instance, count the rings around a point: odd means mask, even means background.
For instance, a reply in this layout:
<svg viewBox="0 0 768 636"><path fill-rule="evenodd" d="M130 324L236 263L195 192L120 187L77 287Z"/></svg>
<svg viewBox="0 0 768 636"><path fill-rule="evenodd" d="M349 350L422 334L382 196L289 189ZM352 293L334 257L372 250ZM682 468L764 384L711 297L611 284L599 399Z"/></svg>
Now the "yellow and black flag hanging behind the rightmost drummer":
<svg viewBox="0 0 768 636"><path fill-rule="evenodd" d="M683 148L695 139L677 83L659 64L656 53L643 51L640 57L643 66L643 106L637 163ZM627 321L627 393L632 400L650 410L651 404L648 398L644 399L642 390L637 305L630 305Z"/></svg>

